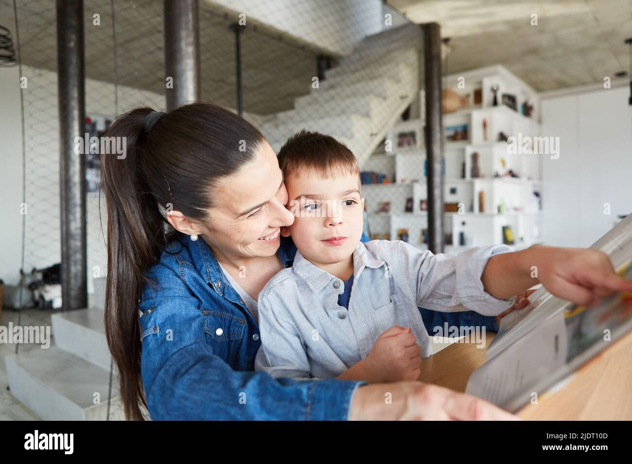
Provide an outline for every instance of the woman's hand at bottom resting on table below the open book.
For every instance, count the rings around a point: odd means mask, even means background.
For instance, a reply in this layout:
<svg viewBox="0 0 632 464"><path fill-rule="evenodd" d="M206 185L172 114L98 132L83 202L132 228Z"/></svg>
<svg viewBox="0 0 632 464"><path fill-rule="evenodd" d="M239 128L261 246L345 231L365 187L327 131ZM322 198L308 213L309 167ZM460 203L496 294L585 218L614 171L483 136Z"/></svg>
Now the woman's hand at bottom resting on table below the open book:
<svg viewBox="0 0 632 464"><path fill-rule="evenodd" d="M363 385L351 420L519 420L475 396L422 382Z"/></svg>

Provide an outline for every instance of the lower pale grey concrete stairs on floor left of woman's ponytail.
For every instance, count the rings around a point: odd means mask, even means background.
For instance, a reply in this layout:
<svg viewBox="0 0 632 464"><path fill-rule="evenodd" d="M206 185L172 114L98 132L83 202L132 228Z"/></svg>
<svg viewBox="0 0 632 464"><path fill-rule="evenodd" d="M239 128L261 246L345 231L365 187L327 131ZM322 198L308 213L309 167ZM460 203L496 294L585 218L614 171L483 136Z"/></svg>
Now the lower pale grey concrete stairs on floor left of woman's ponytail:
<svg viewBox="0 0 632 464"><path fill-rule="evenodd" d="M94 307L52 314L51 347L5 358L11 394L42 419L107 419L111 355L103 320L104 281L95 279ZM123 420L116 373L111 395L109 419Z"/></svg>

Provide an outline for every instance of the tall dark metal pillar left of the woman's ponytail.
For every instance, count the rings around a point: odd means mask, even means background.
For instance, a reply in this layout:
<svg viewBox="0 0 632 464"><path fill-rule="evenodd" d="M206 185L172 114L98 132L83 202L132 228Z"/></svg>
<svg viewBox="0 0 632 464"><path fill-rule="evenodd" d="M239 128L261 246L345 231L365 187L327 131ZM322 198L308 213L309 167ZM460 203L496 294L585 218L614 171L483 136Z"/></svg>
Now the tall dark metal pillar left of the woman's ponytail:
<svg viewBox="0 0 632 464"><path fill-rule="evenodd" d="M83 0L57 0L59 178L61 192L61 298L63 309L88 306L85 225ZM83 152L83 150L80 150Z"/></svg>

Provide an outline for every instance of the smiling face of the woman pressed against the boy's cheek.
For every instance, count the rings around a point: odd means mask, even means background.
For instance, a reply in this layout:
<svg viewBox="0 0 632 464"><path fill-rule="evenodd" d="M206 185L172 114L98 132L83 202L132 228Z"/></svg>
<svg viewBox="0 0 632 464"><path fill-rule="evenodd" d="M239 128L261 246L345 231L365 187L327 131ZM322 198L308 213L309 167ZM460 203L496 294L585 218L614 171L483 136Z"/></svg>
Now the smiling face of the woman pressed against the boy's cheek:
<svg viewBox="0 0 632 464"><path fill-rule="evenodd" d="M219 181L214 207L202 237L224 258L272 256L281 242L281 227L294 216L285 207L288 191L272 147L263 142L257 157Z"/></svg>

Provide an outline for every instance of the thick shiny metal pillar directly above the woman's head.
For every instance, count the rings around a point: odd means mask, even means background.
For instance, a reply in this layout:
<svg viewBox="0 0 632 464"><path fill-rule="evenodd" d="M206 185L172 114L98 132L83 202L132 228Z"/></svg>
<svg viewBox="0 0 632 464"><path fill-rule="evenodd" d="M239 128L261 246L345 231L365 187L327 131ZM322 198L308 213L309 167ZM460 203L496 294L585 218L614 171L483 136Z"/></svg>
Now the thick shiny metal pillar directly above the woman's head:
<svg viewBox="0 0 632 464"><path fill-rule="evenodd" d="M200 15L198 0L164 0L167 111L200 100Z"/></svg>

